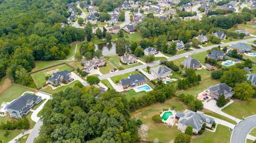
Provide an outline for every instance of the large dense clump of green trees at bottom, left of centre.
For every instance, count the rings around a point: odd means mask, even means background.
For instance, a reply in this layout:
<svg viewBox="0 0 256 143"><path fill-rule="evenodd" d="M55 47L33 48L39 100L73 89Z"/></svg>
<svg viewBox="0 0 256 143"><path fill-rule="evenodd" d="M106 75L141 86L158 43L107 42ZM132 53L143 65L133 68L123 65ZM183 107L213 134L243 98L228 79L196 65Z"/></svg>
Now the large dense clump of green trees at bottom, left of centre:
<svg viewBox="0 0 256 143"><path fill-rule="evenodd" d="M126 98L94 89L77 85L55 93L35 142L137 142L141 121L131 119Z"/></svg>

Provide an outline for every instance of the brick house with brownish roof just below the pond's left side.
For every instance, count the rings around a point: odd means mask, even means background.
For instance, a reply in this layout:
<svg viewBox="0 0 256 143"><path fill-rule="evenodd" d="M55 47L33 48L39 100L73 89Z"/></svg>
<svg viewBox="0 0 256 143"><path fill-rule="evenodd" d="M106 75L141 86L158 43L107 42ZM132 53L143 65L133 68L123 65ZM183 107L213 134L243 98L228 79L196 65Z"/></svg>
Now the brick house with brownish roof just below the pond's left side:
<svg viewBox="0 0 256 143"><path fill-rule="evenodd" d="M91 73L95 68L104 66L106 64L103 58L93 58L90 61L83 61L84 72Z"/></svg>

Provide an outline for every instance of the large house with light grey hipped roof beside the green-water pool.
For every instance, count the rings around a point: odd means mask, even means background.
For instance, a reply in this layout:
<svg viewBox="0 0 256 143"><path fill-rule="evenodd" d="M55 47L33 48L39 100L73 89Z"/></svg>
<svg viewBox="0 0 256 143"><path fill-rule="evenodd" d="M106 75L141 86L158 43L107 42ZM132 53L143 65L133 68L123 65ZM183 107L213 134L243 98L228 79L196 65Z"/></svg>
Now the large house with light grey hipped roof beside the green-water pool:
<svg viewBox="0 0 256 143"><path fill-rule="evenodd" d="M185 110L184 113L177 112L175 114L175 119L178 120L178 129L182 132L185 132L186 128L191 125L193 127L193 133L198 133L203 124L206 124L206 127L211 128L214 122L212 117L205 116L203 112L194 112L190 110Z"/></svg>

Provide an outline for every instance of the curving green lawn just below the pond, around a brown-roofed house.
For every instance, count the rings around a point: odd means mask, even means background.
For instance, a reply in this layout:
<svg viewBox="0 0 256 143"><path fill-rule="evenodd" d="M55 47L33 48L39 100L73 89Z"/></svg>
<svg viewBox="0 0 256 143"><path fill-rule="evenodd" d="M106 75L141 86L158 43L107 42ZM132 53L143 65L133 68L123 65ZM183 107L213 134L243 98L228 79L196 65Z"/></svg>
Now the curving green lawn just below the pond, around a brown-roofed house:
<svg viewBox="0 0 256 143"><path fill-rule="evenodd" d="M115 66L116 68L124 68L124 69L129 69L129 68L133 68L134 66L139 66L139 65L142 65L142 63L140 62L137 62L137 63L133 63L133 64L122 64L120 62L120 56L118 55L111 55L109 56L108 58L108 61L113 65Z"/></svg>

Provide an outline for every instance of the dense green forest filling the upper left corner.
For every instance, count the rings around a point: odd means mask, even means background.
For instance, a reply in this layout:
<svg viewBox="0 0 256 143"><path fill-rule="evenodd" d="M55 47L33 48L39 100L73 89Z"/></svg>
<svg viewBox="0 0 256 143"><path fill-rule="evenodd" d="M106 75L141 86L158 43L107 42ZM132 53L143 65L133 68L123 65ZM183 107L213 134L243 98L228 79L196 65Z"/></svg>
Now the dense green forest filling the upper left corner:
<svg viewBox="0 0 256 143"><path fill-rule="evenodd" d="M0 79L8 70L13 82L33 87L28 72L35 60L64 59L69 54L69 43L84 40L83 29L60 26L70 15L67 3L17 0L0 5Z"/></svg>

